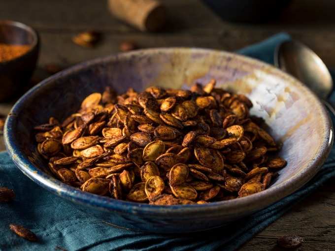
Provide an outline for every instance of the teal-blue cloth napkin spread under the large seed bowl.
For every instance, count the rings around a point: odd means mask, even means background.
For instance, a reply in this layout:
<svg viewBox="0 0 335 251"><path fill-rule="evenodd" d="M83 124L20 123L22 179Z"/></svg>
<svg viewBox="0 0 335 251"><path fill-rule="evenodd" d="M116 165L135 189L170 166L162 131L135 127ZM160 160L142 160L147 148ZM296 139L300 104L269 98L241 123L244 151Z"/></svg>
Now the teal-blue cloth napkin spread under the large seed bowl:
<svg viewBox="0 0 335 251"><path fill-rule="evenodd" d="M287 34L280 33L239 52L272 63L276 44L287 39L290 39ZM332 119L334 123L335 118ZM116 228L78 211L73 205L35 185L3 152L0 153L0 187L13 188L16 199L8 204L0 204L0 250L236 250L293 204L334 177L334 167L335 149L322 170L308 184L270 207L215 230L164 235ZM9 223L30 228L38 236L39 242L32 243L16 236L9 230Z"/></svg>

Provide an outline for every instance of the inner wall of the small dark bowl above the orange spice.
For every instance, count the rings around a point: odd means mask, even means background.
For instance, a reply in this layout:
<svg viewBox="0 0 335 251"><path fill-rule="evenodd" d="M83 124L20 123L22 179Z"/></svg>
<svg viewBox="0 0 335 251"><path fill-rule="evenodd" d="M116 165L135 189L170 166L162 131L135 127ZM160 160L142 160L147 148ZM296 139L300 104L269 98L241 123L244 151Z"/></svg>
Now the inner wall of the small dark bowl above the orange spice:
<svg viewBox="0 0 335 251"><path fill-rule="evenodd" d="M33 46L36 42L36 33L29 26L14 21L0 21L0 43Z"/></svg>

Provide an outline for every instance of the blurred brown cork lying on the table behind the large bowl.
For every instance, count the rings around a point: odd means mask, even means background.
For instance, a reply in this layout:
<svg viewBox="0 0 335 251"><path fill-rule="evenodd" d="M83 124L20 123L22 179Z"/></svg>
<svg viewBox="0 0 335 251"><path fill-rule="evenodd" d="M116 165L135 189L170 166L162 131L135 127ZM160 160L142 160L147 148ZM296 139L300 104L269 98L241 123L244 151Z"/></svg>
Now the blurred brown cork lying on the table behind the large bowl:
<svg viewBox="0 0 335 251"><path fill-rule="evenodd" d="M156 0L108 0L110 12L141 31L158 31L166 21L165 8Z"/></svg>

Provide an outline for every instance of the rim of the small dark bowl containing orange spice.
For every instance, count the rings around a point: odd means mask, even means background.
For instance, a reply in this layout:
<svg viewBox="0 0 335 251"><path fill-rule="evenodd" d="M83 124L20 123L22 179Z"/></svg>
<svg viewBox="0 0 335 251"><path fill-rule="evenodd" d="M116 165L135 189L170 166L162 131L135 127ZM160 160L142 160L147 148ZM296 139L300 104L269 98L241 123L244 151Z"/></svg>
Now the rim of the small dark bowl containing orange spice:
<svg viewBox="0 0 335 251"><path fill-rule="evenodd" d="M27 54L31 53L34 50L34 48L36 48L38 46L39 36L38 36L37 31L35 31L33 29L33 27L31 27L29 25L26 25L24 23L18 22L18 21L0 20L0 26L3 26L3 25L12 26L12 27L15 26L15 27L21 28L22 30L25 30L28 33L31 33L33 35L33 43L29 44L30 48L26 53L22 54L19 57L15 57L11 60L7 60L7 61L3 61L3 62L0 61L0 65L5 65L6 63L11 63L13 61L16 61L16 60L22 58L22 57L25 57Z"/></svg>

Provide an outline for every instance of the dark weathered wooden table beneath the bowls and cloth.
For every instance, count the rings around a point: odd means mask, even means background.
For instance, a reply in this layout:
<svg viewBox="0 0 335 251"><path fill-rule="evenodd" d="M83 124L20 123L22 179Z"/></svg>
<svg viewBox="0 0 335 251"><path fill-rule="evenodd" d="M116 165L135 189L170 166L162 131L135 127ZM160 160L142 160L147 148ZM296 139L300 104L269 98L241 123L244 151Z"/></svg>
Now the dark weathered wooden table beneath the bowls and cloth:
<svg viewBox="0 0 335 251"><path fill-rule="evenodd" d="M164 2L169 21L167 28L159 33L142 33L115 20L104 0L0 0L0 18L21 21L39 32L37 78L43 76L41 67L45 64L69 66L113 54L124 40L134 40L140 48L191 46L234 51L279 31L289 32L315 50L328 66L335 66L335 1L295 0L279 20L258 25L223 22L198 0ZM71 42L74 34L87 29L103 33L103 40L94 49ZM0 104L0 112L6 113L11 104ZM300 250L335 250L333 182L335 179L294 206L241 250L279 250L276 239L290 234L305 238Z"/></svg>

